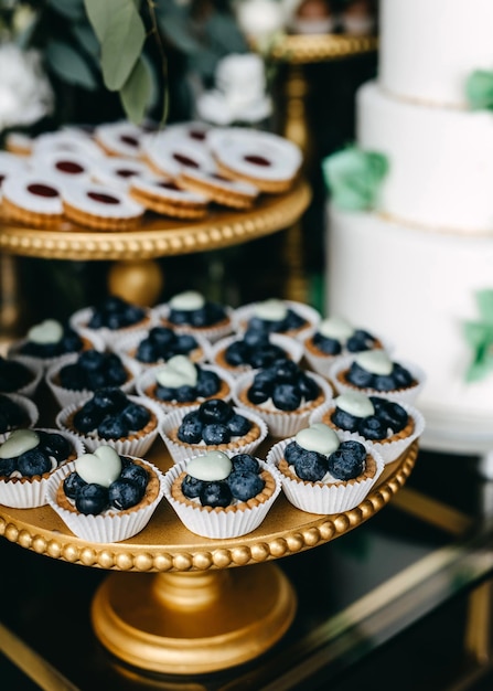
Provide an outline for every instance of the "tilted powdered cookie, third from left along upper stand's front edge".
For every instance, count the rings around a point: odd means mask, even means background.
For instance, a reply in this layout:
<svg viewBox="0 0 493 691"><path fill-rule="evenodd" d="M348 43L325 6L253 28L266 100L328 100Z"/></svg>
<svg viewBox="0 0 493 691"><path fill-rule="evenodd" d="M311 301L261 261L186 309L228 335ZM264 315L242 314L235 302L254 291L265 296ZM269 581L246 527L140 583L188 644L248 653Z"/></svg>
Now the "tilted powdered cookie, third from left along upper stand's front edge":
<svg viewBox="0 0 493 691"><path fill-rule="evenodd" d="M133 178L129 194L146 209L175 219L203 219L207 213L206 196L185 190L169 178Z"/></svg>

